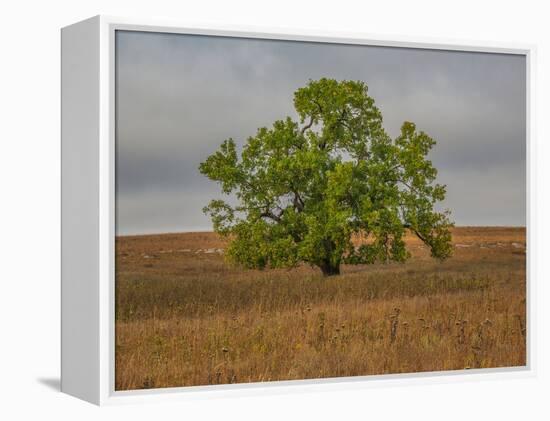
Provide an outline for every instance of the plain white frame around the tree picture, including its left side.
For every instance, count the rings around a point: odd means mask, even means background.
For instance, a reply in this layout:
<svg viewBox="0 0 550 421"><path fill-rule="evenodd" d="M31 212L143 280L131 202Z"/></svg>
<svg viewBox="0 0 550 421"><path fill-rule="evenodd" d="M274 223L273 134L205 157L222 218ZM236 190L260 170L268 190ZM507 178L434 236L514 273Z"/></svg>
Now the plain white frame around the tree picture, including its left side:
<svg viewBox="0 0 550 421"><path fill-rule="evenodd" d="M114 388L114 239L115 116L114 71L117 30L282 39L340 44L522 54L527 63L527 365L400 375L296 380L272 383L193 386L115 391ZM94 404L166 399L294 393L380 384L442 383L529 377L536 374L536 332L532 247L536 221L532 203L532 104L534 92L531 45L462 44L426 40L312 31L280 32L274 28L231 25L193 26L158 20L96 16L61 31L62 52L62 321L61 390Z"/></svg>

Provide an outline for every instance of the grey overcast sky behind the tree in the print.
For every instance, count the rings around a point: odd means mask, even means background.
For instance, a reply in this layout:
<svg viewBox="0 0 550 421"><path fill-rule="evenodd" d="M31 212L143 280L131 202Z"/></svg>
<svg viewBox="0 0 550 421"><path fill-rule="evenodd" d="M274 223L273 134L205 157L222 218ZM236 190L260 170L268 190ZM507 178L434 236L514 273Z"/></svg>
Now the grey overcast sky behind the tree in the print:
<svg viewBox="0 0 550 421"><path fill-rule="evenodd" d="M296 117L309 79L362 80L395 137L433 137L457 225L525 225L526 73L516 55L117 31L117 234L211 230L198 165Z"/></svg>

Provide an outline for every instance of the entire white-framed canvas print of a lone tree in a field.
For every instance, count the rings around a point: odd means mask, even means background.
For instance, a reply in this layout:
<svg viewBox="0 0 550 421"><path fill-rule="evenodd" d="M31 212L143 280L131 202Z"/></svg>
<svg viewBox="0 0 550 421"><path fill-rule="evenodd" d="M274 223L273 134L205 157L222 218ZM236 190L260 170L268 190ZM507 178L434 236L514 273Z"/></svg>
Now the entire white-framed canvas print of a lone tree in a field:
<svg viewBox="0 0 550 421"><path fill-rule="evenodd" d="M62 390L533 372L531 47L62 30Z"/></svg>

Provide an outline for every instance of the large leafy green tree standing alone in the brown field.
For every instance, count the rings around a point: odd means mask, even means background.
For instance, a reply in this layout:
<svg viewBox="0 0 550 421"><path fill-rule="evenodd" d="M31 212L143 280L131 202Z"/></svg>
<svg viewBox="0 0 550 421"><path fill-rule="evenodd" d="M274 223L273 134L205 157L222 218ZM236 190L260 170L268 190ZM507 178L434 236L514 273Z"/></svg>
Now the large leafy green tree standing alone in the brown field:
<svg viewBox="0 0 550 421"><path fill-rule="evenodd" d="M306 262L337 275L342 263L405 261L407 230L432 257L450 256L450 212L434 210L445 186L427 159L435 141L410 122L392 140L367 90L360 81L310 81L294 93L299 122L258 129L240 157L228 139L200 164L238 202L204 208L229 239L231 260L260 269ZM366 241L357 246L359 235Z"/></svg>

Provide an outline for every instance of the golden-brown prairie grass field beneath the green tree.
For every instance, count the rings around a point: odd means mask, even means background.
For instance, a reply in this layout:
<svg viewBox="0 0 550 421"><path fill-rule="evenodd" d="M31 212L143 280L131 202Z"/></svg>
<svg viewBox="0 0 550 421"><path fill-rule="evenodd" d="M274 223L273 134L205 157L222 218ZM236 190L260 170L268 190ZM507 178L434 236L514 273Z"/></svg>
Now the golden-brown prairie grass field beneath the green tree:
<svg viewBox="0 0 550 421"><path fill-rule="evenodd" d="M525 229L453 243L324 278L233 266L214 233L117 237L116 389L525 365Z"/></svg>

